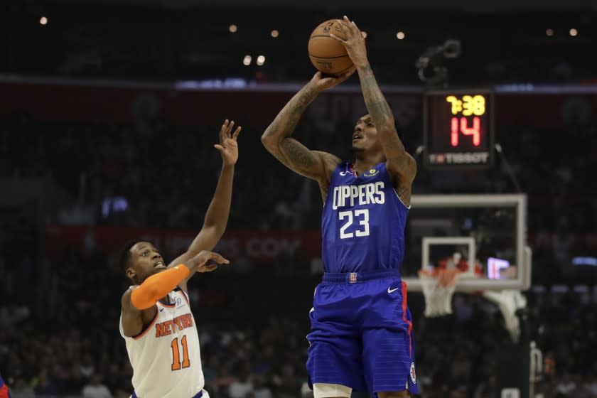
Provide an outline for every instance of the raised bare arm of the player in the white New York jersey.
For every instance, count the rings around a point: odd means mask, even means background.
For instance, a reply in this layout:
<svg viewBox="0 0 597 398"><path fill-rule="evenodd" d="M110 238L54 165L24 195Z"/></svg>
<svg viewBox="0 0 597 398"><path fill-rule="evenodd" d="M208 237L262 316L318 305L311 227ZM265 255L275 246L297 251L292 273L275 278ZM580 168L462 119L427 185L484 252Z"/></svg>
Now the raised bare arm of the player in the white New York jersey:
<svg viewBox="0 0 597 398"><path fill-rule="evenodd" d="M228 215L230 215L232 180L234 179L235 174L235 164L238 160L237 139L241 130L240 126L236 129L234 129L234 127L235 122L226 119L220 128L220 144L214 145L215 149L220 151L220 154L222 155L222 171L220 172L220 178L217 180L215 193L213 194L210 206L207 213L205 213L203 227L201 227L201 230L193 242L190 243L187 251L174 259L174 261L168 265L168 268L175 267L176 265L185 262L202 250L213 249L217 244L217 241L224 235L228 222ZM187 291L187 281L193 274L194 272L191 272L179 285L184 291Z"/></svg>

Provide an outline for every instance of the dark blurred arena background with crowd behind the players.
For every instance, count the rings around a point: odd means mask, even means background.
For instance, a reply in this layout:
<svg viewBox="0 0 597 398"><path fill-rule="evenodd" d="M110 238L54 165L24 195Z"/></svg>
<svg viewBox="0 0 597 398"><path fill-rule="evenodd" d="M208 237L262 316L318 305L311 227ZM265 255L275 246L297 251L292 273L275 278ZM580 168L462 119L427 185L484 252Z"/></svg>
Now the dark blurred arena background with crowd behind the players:
<svg viewBox="0 0 597 398"><path fill-rule="evenodd" d="M143 236L171 259L188 244L213 195L224 118L243 127L217 247L232 266L189 285L206 389L213 398L311 397L305 335L322 271L321 198L259 137L313 75L309 33L343 14L367 31L411 154L423 144L426 87L495 89L495 140L507 163L497 156L491 168L466 171L419 164L414 193L527 195L528 332L544 355L535 392L597 397L590 1L4 0L0 374L13 397L103 397L83 393L97 384L129 396L118 333L128 283L117 248ZM448 40L462 52L434 58L446 76L417 70L421 55ZM318 98L296 135L350 156L362 109L353 77ZM424 318L421 294L409 306L421 397L499 397L496 350L508 337L495 306L456 294L455 313L435 320Z"/></svg>

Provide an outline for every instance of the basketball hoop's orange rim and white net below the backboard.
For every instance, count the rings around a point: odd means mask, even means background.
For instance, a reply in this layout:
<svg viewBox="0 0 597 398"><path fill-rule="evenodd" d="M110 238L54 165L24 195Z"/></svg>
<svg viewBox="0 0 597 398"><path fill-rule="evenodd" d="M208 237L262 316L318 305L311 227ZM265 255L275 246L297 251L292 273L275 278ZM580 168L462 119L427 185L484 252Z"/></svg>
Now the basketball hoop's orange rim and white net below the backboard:
<svg viewBox="0 0 597 398"><path fill-rule="evenodd" d="M456 278L461 272L456 268L421 269L419 279L425 295L425 316L434 318L452 313L452 296Z"/></svg>

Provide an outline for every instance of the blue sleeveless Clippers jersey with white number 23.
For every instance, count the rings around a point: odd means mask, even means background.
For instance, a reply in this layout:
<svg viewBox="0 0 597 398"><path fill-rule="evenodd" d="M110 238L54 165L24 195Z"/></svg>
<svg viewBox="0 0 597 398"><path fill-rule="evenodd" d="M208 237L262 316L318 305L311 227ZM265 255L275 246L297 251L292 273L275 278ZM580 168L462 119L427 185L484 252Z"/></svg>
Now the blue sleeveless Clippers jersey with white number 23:
<svg viewBox="0 0 597 398"><path fill-rule="evenodd" d="M321 217L324 271L399 269L408 212L385 162L361 176L350 163L338 165Z"/></svg>

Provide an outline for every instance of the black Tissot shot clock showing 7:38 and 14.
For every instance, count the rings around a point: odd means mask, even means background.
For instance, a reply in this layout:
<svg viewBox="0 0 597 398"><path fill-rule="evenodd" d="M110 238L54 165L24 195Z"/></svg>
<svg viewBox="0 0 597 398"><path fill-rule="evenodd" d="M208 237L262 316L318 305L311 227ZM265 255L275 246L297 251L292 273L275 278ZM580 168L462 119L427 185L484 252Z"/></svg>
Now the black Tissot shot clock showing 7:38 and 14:
<svg viewBox="0 0 597 398"><path fill-rule="evenodd" d="M491 90L429 90L423 101L428 168L483 168L493 164Z"/></svg>

